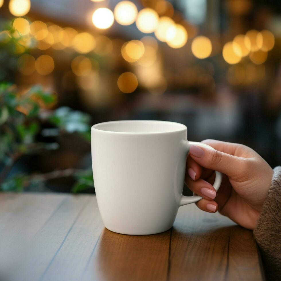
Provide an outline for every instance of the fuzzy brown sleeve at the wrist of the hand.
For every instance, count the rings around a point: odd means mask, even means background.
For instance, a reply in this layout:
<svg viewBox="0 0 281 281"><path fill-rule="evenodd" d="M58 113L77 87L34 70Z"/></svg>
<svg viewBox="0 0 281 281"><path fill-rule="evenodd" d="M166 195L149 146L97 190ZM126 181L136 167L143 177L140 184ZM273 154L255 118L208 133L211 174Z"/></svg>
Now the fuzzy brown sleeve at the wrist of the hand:
<svg viewBox="0 0 281 281"><path fill-rule="evenodd" d="M281 280L281 166L274 175L254 229L269 280Z"/></svg>

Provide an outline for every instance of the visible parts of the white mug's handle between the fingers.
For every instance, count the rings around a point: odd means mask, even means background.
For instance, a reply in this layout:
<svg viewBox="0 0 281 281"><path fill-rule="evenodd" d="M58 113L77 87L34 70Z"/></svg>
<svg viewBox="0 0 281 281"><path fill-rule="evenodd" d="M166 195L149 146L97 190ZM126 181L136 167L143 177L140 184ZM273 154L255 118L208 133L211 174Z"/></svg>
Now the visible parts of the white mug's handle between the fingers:
<svg viewBox="0 0 281 281"><path fill-rule="evenodd" d="M189 149L192 145L201 146L201 147L205 147L205 148L208 148L208 149L215 150L210 145L206 145L205 143L198 143L197 141L184 141L183 144L184 144L184 147L186 149L186 153L189 152ZM216 172L216 178L215 178L215 182L214 182L213 186L214 186L214 189L216 191L218 191L218 189L220 187L220 184L222 182L223 175L222 175L222 173L220 173L218 171L215 171L215 172ZM184 195L182 195L181 198L180 198L180 201L179 201L179 206L194 203L194 202L197 202L201 199L202 199L202 197L200 197L198 195L196 195L196 196L184 196Z"/></svg>

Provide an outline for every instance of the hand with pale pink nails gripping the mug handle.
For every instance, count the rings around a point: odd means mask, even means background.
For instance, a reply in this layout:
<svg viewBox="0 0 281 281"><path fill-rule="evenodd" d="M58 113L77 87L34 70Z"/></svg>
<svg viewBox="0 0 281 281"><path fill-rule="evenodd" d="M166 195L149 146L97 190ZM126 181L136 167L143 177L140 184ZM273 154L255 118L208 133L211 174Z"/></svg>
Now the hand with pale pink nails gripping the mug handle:
<svg viewBox="0 0 281 281"><path fill-rule="evenodd" d="M205 140L216 150L192 145L187 158L186 184L203 197L196 204L206 212L216 212L235 223L254 229L270 188L273 169L253 149L236 143ZM214 170L223 173L216 192Z"/></svg>

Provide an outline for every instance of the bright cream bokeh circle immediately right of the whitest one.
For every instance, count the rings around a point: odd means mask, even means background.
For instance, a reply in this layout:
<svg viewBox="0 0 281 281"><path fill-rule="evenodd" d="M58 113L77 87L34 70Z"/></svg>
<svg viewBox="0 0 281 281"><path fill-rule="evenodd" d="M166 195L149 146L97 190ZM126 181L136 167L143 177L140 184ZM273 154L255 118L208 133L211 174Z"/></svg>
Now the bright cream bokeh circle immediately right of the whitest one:
<svg viewBox="0 0 281 281"><path fill-rule="evenodd" d="M130 25L134 23L138 9L131 1L121 1L114 8L114 17L118 24Z"/></svg>

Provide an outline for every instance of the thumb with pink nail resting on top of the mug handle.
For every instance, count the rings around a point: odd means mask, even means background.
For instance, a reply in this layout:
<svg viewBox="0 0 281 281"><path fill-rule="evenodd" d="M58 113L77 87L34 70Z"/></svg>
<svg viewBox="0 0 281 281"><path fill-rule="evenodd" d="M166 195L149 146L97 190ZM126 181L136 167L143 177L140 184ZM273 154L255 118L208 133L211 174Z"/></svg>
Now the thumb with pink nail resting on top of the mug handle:
<svg viewBox="0 0 281 281"><path fill-rule="evenodd" d="M233 156L201 145L192 145L189 154L204 168L219 171L229 177L237 176L245 158Z"/></svg>

